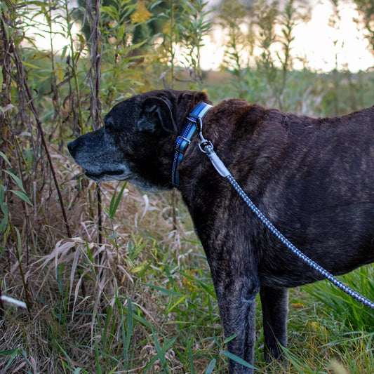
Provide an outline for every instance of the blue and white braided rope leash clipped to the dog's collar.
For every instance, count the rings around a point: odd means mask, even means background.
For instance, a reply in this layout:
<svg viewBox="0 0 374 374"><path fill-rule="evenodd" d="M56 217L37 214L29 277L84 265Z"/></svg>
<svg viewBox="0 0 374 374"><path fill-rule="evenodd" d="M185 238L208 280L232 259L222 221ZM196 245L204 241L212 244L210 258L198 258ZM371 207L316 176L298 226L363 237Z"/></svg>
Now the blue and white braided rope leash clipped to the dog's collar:
<svg viewBox="0 0 374 374"><path fill-rule="evenodd" d="M240 187L240 185L238 184L238 182L236 182L236 180L234 179L234 177L232 176L232 174L226 168L225 164L222 162L222 160L215 153L215 151L213 149L212 143L209 140L206 140L203 137L203 134L202 134L202 129L203 129L202 118L203 118L204 114L206 114L206 112L208 111L208 109L211 108L211 105L208 105L208 104L204 105L204 104L205 103L201 103L201 107L203 107L203 110L201 110L201 108L199 109L199 113L203 113L203 114L202 115L201 114L197 114L196 115L196 113L192 112L192 114L190 114L190 116L188 117L188 122L189 123L194 123L194 126L196 126L196 128L194 130L197 129L197 131L199 131L199 137L200 137L200 140L201 140L199 142L199 148L200 148L201 152L205 153L208 156L208 158L211 160L211 163L213 164L213 166L215 167L215 169L218 171L218 173L222 177L227 178L227 180L229 180L229 182L232 184L232 187L234 187L234 189L236 190L236 192L238 192L238 194L246 202L246 204L249 206L249 208L251 208L251 211L253 211L253 213L255 213L255 215L257 215L258 218L260 218L260 220L262 221L262 223L264 223L267 226L267 228L284 245L286 245L288 248L290 248L290 250L293 253L295 253L295 255L297 255L299 258L301 258L309 266L313 267L313 269L315 269L317 272L319 272L320 274L322 274L330 282L332 282L333 284L335 284L335 286L338 286L338 288L340 288L345 293L347 293L347 295L349 295L352 298L358 300L363 305L366 305L366 307L369 307L370 309L374 309L374 302L372 302L372 301L368 300L367 298L363 297L363 295L361 295L360 293L356 292L355 290L352 290L352 288L349 288L347 285L345 285L345 283L343 283L338 278L336 278L335 276L333 276L333 274L331 274L330 272L328 272L326 269L323 269L323 267L321 267L321 265L318 265L314 260L312 260L311 258L309 258L304 253L302 253L302 251L300 251L300 249L296 248L293 245L293 243L291 243L286 238L286 236L284 236L283 234L281 234L281 232L279 232L279 230L276 229L276 227L272 224L272 222L270 222L265 217L265 215L260 211L260 209L257 206L255 206L255 203L253 203L253 201L248 197L248 195L246 194L246 192L243 191L243 189ZM196 109L198 107L196 107ZM193 133L194 133L194 131L192 131L192 133L189 135L189 138L188 138L188 141L187 141L187 146L189 145L189 142L190 142L190 139L192 138ZM178 137L178 138L180 138L180 137ZM178 138L177 138L177 140L178 140ZM184 139L184 140L187 140L187 139ZM182 154L182 157L183 157L183 154ZM180 160L178 162L178 165L179 165L180 161L182 160L182 157L180 158ZM177 168L178 168L178 166L177 166ZM178 175L177 171L175 171L175 173ZM178 181L178 179L177 179L177 181Z"/></svg>

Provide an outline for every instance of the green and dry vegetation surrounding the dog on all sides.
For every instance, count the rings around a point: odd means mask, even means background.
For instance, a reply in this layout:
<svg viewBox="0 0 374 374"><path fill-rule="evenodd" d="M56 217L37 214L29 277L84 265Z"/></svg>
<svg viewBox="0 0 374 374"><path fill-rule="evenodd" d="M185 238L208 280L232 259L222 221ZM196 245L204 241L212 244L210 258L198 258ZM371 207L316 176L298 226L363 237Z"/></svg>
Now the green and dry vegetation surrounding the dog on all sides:
<svg viewBox="0 0 374 374"><path fill-rule="evenodd" d="M0 2L0 296L25 302L0 299L0 372L225 373L208 264L178 194L97 185L67 142L153 88L322 116L372 105L374 75L321 74L307 61L293 70L295 0L226 0L216 10L203 0L100 3ZM225 59L222 71L203 72L214 24L227 33ZM48 49L31 27L46 30ZM59 35L66 46L53 43ZM344 279L374 298L372 267ZM290 363L263 362L259 310L260 371L374 372L370 311L324 282L290 299Z"/></svg>

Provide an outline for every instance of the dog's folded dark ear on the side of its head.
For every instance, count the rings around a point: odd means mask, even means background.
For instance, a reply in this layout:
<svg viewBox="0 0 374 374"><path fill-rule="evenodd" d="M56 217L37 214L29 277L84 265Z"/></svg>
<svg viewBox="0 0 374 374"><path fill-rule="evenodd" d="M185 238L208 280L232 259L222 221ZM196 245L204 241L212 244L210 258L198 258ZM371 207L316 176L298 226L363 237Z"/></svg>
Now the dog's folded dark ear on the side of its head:
<svg viewBox="0 0 374 374"><path fill-rule="evenodd" d="M140 131L155 131L160 126L169 133L177 133L178 128L173 119L171 107L161 98L147 98L143 102L138 119Z"/></svg>

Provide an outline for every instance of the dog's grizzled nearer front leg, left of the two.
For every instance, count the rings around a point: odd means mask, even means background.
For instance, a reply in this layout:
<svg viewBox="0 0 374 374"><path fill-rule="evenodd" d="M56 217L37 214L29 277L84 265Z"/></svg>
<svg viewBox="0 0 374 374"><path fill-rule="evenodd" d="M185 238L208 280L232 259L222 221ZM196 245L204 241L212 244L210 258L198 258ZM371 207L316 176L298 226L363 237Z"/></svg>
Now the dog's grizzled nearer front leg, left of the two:
<svg viewBox="0 0 374 374"><path fill-rule="evenodd" d="M254 275L255 274L255 275ZM217 275L217 274L216 274ZM253 365L255 347L255 298L260 290L257 272L243 274L231 268L229 274L213 276L220 316L230 353ZM252 374L253 369L229 360L230 374Z"/></svg>

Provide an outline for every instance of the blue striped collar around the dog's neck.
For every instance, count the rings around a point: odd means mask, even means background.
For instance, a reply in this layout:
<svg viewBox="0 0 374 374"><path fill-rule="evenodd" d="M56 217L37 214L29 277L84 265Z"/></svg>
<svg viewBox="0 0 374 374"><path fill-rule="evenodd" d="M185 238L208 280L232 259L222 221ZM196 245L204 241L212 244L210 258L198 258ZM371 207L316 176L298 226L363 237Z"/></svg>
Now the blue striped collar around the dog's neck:
<svg viewBox="0 0 374 374"><path fill-rule="evenodd" d="M196 131L196 120L203 119L203 116L205 116L206 112L208 112L212 106L213 105L206 104L206 102L201 102L197 105L194 111L187 117L187 123L182 133L175 140L173 163L171 164L171 185L174 187L179 186L178 166L191 142L192 135L194 135Z"/></svg>

